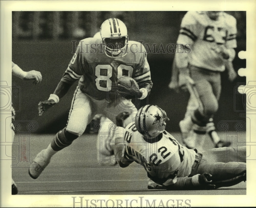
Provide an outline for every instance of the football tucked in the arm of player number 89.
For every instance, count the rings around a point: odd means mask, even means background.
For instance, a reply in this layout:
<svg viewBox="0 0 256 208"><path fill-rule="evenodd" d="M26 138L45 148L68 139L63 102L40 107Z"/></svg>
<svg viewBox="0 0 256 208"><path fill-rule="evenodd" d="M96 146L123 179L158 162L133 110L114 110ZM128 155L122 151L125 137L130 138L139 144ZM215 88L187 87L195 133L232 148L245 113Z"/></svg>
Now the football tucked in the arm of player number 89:
<svg viewBox="0 0 256 208"><path fill-rule="evenodd" d="M142 92L140 91L137 82L128 76L123 76L117 81L117 93L125 99L140 98Z"/></svg>

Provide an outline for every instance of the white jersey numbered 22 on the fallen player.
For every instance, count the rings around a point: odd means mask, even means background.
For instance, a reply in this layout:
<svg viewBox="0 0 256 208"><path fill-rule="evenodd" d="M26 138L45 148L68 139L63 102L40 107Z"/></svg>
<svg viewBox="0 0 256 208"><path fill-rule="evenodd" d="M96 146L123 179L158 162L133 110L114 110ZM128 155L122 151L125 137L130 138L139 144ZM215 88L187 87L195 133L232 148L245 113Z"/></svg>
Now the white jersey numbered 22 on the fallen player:
<svg viewBox="0 0 256 208"><path fill-rule="evenodd" d="M124 130L124 140L124 157L143 165L151 177L166 178L171 184L177 177L190 175L196 152L183 147L168 132L164 131L154 140L146 140L135 123L130 123Z"/></svg>

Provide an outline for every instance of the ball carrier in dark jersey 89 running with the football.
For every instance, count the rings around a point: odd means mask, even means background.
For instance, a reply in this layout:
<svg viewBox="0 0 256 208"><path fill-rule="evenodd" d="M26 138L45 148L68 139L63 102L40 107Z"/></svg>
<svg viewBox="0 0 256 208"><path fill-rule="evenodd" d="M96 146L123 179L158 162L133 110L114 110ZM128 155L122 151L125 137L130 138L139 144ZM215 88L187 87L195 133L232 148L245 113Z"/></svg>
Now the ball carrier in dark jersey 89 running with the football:
<svg viewBox="0 0 256 208"><path fill-rule="evenodd" d="M47 108L58 103L70 86L79 80L67 126L55 135L46 149L37 154L33 166L29 168L29 175L34 179L41 174L55 153L83 134L96 114L103 114L112 121L115 121L116 114L123 111L134 116L132 113L137 112L137 109L129 99L117 97L116 100L117 93L112 86L116 86L119 78L132 77L140 84L140 95L137 94L137 98L146 97L151 90L146 50L139 42L128 42L124 23L110 18L102 23L100 35L101 39L86 38L80 41L54 93L48 100L38 104L39 115L42 115Z"/></svg>

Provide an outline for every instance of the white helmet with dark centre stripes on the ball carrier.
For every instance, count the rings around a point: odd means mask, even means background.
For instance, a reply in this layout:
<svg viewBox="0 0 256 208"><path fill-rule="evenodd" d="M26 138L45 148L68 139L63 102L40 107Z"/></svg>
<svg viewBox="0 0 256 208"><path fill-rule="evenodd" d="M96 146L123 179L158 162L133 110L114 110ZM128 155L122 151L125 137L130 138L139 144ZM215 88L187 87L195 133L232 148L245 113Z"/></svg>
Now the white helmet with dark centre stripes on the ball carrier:
<svg viewBox="0 0 256 208"><path fill-rule="evenodd" d="M109 57L123 57L127 53L128 35L125 24L116 18L105 20L100 27L105 54Z"/></svg>

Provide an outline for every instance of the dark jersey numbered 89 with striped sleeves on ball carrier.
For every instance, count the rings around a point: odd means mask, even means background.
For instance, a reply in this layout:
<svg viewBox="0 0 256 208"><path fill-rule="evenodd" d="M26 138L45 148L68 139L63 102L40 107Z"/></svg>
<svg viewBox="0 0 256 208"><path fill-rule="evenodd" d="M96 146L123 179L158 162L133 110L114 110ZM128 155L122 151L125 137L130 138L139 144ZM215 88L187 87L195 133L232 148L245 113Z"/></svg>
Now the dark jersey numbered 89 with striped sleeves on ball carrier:
<svg viewBox="0 0 256 208"><path fill-rule="evenodd" d="M123 57L105 54L100 39L86 38L80 41L61 81L73 83L79 79L79 88L95 99L106 99L111 86L122 76L132 77L141 87L151 89L150 67L145 47L129 41Z"/></svg>

